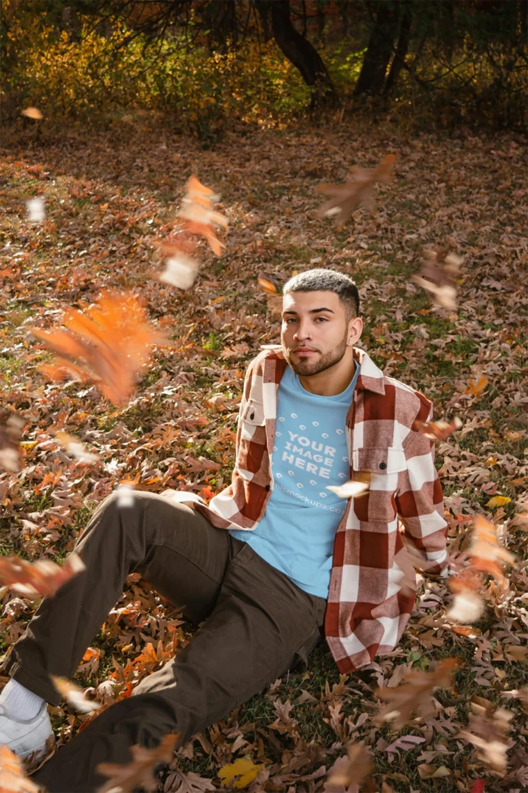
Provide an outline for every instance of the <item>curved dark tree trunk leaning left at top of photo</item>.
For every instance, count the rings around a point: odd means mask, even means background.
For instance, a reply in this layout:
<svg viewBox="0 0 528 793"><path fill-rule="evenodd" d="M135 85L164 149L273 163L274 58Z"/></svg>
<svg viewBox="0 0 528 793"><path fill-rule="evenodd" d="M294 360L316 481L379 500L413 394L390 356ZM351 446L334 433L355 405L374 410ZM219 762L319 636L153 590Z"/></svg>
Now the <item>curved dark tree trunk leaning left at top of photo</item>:
<svg viewBox="0 0 528 793"><path fill-rule="evenodd" d="M312 105L336 102L336 90L323 59L310 41L294 29L289 0L273 2L272 33L284 55L301 72L306 85L313 89Z"/></svg>

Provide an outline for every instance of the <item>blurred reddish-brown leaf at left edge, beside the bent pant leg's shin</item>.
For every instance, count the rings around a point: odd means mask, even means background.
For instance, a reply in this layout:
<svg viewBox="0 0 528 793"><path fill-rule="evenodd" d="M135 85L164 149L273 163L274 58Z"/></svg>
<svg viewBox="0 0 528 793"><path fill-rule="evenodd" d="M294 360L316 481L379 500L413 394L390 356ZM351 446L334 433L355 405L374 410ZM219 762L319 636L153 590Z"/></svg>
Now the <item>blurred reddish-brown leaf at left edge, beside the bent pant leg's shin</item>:
<svg viewBox="0 0 528 793"><path fill-rule="evenodd" d="M0 582L28 598L50 597L70 578L85 569L82 558L72 552L63 566L54 561L25 561L13 554L0 557Z"/></svg>

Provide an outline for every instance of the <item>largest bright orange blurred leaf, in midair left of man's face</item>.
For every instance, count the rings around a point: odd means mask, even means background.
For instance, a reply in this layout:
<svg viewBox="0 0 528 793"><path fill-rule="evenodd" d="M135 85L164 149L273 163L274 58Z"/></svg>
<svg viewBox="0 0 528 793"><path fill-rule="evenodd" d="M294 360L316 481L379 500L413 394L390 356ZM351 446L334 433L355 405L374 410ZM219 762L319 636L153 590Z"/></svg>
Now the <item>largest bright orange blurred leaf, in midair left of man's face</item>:
<svg viewBox="0 0 528 793"><path fill-rule="evenodd" d="M150 358L150 347L165 338L147 324L139 298L131 293L109 293L85 313L66 308L62 330L32 328L58 362L41 367L53 380L74 376L92 379L114 404L125 402L142 367Z"/></svg>

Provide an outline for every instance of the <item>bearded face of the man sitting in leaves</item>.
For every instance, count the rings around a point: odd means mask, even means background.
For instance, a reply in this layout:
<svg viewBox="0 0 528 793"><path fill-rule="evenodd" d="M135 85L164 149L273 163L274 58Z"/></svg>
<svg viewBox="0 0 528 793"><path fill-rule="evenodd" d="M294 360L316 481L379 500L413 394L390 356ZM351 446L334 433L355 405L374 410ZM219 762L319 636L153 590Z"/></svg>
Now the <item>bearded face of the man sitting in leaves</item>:
<svg viewBox="0 0 528 793"><path fill-rule="evenodd" d="M304 377L340 362L347 350L348 322L336 293L285 294L280 340L288 364Z"/></svg>

